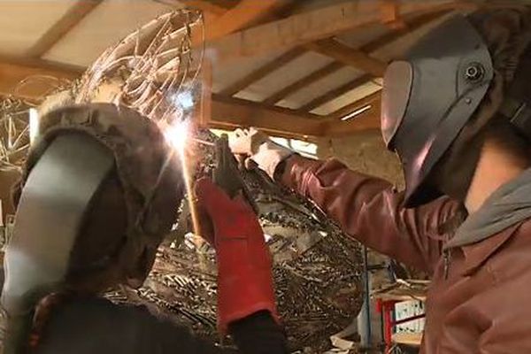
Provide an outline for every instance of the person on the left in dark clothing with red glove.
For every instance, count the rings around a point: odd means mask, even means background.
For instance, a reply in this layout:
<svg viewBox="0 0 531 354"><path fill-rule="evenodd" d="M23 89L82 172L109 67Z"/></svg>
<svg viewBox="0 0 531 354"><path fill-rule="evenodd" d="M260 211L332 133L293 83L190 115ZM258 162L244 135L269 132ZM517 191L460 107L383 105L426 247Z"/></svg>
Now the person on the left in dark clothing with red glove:
<svg viewBox="0 0 531 354"><path fill-rule="evenodd" d="M157 125L126 107L89 104L43 115L40 131L5 251L4 354L287 352L269 250L242 196L196 183L215 230L205 236L219 263L219 330L239 348L231 350L100 296L142 285L175 222L181 167Z"/></svg>

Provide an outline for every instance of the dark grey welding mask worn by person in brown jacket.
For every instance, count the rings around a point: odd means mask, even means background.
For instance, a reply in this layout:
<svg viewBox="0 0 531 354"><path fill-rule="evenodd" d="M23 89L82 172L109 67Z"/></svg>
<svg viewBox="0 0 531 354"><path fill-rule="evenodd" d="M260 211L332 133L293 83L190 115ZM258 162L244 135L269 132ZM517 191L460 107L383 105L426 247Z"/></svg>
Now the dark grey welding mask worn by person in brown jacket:
<svg viewBox="0 0 531 354"><path fill-rule="evenodd" d="M403 164L404 206L441 196L428 175L473 116L493 77L486 43L460 15L444 21L389 65L381 131Z"/></svg>

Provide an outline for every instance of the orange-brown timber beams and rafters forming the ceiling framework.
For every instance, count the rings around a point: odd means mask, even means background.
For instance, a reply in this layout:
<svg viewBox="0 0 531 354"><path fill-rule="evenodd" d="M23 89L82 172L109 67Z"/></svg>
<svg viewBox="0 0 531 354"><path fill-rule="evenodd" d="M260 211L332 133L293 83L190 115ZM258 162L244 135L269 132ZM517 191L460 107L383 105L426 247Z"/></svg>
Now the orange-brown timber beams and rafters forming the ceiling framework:
<svg viewBox="0 0 531 354"><path fill-rule="evenodd" d="M26 58L0 58L0 93L13 94L12 90L19 81L35 73L64 79L79 77L80 70L67 65L47 63L42 57L104 1L76 0L70 11L27 50ZM175 0L153 1L165 4L175 2ZM212 127L256 126L272 134L299 138L347 135L358 130L377 128L380 92L347 104L326 116L312 114L312 111L367 82L381 78L388 63L373 57L374 52L441 18L455 9L456 4L463 4L448 0L348 1L317 11L290 14L296 12L297 1L179 0L181 4L205 12L206 45L208 50L216 54L216 65L235 58L284 50L280 57L258 67L227 88L221 89L220 92L212 94L209 109L211 115L209 124ZM375 23L384 24L392 30L359 48L352 48L335 38L336 35L346 31L363 31L366 26ZM329 57L332 61L269 94L262 102L235 98L238 93L302 57L308 51ZM322 92L295 109L276 105L346 66L357 69L361 74L352 81ZM29 92L24 96L35 98L37 94ZM349 117L352 112L359 110L357 116Z"/></svg>

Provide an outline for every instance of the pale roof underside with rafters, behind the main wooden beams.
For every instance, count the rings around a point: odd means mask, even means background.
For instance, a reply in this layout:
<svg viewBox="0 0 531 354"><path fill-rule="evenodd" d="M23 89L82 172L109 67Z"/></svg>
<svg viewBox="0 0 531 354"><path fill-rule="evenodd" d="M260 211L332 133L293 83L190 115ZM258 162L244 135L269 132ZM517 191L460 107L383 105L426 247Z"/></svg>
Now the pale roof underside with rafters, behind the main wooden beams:
<svg viewBox="0 0 531 354"><path fill-rule="evenodd" d="M382 7L382 13L392 12L393 8L396 11L401 4L406 7L411 2L382 0L382 4L389 3L389 9ZM419 3L430 2L442 3L441 0ZM112 43L185 3L209 11L206 19L211 14L222 16L223 12L231 11L230 6L251 4L252 7L252 0L240 3L236 0L183 0L181 3L173 0L4 0L0 4L0 58L9 63L42 62L56 67L84 68ZM280 10L268 13L258 22L253 19L251 25L342 3L358 4L361 15L363 6L373 6L376 1L284 0L283 3ZM283 109L282 112L308 119L341 119L358 109L357 103L367 104L378 96L381 68L389 60L398 58L420 35L451 15L449 8L436 9L405 14L392 22L382 19L296 47L213 61L212 92L257 104L261 109ZM214 12L218 13L214 15ZM1 75L0 71L0 80Z"/></svg>

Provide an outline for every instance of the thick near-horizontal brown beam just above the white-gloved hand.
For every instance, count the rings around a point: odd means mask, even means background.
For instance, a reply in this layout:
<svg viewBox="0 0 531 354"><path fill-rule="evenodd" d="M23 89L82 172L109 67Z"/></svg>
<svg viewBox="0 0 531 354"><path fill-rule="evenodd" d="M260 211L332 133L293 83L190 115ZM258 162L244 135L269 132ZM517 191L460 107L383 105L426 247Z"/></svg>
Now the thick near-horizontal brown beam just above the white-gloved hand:
<svg viewBox="0 0 531 354"><path fill-rule="evenodd" d="M309 119L289 110L279 110L252 104L234 97L212 96L210 127L234 129L258 127L268 134L305 138L323 134L320 119Z"/></svg>

